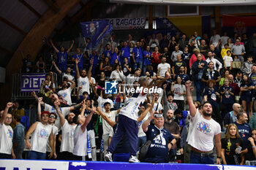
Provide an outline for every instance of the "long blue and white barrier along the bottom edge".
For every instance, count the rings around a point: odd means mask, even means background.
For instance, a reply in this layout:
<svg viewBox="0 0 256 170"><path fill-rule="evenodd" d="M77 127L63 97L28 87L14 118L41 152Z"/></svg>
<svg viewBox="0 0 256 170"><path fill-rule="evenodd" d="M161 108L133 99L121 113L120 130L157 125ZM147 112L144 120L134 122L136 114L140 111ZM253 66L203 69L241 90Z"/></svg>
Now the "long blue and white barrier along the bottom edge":
<svg viewBox="0 0 256 170"><path fill-rule="evenodd" d="M255 166L187 163L0 160L0 170L255 170Z"/></svg>

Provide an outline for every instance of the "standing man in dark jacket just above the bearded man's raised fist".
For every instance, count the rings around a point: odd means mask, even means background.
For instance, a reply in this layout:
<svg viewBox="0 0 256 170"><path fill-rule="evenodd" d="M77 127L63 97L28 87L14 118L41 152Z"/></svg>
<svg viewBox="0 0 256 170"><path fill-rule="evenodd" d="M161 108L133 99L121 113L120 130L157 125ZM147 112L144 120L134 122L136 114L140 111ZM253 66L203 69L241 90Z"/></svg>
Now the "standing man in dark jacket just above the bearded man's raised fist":
<svg viewBox="0 0 256 170"><path fill-rule="evenodd" d="M196 87L197 93L197 101L201 101L201 91L204 88L204 84L202 82L203 71L207 67L207 62L203 61L203 55L198 53L197 54L197 61L195 61L192 65L192 75L194 80L194 85ZM192 58L190 59L190 61Z"/></svg>

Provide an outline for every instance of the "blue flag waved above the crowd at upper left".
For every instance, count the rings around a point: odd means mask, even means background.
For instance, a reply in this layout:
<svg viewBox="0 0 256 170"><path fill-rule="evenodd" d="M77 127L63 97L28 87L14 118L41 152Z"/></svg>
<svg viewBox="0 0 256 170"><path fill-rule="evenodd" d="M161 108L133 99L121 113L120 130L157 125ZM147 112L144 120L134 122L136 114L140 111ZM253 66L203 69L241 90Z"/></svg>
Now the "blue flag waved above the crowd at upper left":
<svg viewBox="0 0 256 170"><path fill-rule="evenodd" d="M91 39L91 47L94 48L112 30L112 25L107 20L80 23L82 34Z"/></svg>

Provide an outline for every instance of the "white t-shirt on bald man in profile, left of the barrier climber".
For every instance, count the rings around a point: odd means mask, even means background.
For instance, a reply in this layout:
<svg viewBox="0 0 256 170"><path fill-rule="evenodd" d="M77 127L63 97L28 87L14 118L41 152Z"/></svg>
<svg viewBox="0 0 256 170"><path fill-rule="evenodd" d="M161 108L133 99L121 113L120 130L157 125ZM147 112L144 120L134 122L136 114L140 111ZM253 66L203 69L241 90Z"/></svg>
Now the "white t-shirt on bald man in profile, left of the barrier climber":
<svg viewBox="0 0 256 170"><path fill-rule="evenodd" d="M81 125L75 128L73 155L87 155L87 129L83 132Z"/></svg>

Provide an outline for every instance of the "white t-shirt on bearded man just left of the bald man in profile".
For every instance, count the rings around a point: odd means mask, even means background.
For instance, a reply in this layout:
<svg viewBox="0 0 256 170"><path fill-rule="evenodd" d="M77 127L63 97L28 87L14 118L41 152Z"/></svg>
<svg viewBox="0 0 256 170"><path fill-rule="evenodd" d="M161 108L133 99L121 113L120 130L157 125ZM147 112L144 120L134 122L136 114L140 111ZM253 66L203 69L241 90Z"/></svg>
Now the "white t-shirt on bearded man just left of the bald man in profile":
<svg viewBox="0 0 256 170"><path fill-rule="evenodd" d="M70 125L67 120L65 120L64 125L61 127L61 150L60 152L73 152L74 150L74 134L75 127L77 125ZM87 141L87 140L86 140Z"/></svg>

